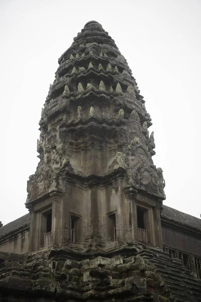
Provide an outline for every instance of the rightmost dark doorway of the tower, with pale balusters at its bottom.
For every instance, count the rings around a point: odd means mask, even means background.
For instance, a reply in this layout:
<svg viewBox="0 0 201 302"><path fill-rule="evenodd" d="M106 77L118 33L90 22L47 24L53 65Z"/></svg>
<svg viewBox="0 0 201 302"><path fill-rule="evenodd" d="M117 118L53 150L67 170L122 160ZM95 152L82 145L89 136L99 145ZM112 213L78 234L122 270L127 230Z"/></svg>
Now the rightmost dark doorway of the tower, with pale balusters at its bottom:
<svg viewBox="0 0 201 302"><path fill-rule="evenodd" d="M138 225L138 241L148 243L147 227L148 227L148 209L137 206L137 225Z"/></svg>

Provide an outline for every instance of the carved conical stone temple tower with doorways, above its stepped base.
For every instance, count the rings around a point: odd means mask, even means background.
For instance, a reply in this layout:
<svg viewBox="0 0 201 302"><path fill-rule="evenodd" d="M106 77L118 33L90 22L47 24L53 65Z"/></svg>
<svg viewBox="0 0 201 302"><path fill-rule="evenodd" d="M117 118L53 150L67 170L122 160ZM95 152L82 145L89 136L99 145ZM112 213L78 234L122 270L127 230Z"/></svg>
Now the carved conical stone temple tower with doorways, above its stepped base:
<svg viewBox="0 0 201 302"><path fill-rule="evenodd" d="M59 58L29 177L30 252L162 248L162 169L145 101L114 40L86 23Z"/></svg>

